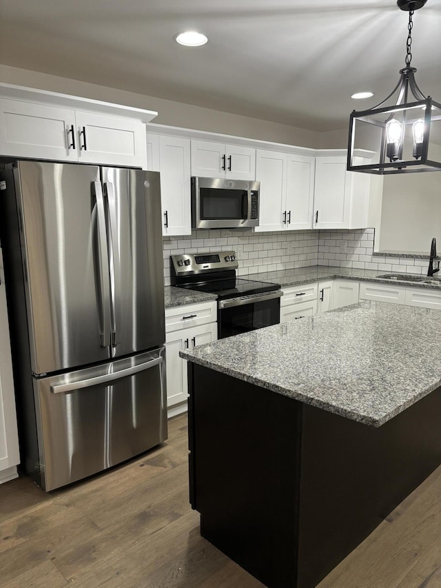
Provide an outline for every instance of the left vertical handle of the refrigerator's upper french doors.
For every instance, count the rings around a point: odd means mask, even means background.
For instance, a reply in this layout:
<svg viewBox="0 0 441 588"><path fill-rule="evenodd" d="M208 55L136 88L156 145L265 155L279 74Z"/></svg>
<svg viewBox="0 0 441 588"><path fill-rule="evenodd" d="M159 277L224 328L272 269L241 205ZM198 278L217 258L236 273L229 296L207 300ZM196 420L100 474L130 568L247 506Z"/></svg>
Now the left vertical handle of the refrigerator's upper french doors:
<svg viewBox="0 0 441 588"><path fill-rule="evenodd" d="M93 182L96 199L96 216L98 224L98 250L99 250L99 284L101 295L101 347L109 347L110 340L110 280L109 280L109 256L107 252L107 234L105 230L105 210L103 199L103 187L101 182Z"/></svg>

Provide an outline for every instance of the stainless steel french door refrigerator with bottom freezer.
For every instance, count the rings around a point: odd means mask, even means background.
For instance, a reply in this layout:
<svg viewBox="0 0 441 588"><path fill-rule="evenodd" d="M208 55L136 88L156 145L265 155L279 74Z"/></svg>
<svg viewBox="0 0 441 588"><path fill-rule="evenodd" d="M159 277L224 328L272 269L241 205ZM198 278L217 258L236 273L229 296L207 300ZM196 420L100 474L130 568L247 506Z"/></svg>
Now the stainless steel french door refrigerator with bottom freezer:
<svg viewBox="0 0 441 588"><path fill-rule="evenodd" d="M167 438L159 174L0 172L21 465L46 491Z"/></svg>

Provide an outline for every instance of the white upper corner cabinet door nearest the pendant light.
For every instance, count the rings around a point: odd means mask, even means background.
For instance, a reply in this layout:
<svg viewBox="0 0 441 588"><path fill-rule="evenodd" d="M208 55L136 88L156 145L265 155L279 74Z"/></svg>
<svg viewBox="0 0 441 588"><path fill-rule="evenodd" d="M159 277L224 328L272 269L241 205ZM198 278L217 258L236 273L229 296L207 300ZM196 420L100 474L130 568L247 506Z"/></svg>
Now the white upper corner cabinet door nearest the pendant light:
<svg viewBox="0 0 441 588"><path fill-rule="evenodd" d="M316 157L314 229L344 229L349 226L346 188L346 159Z"/></svg>

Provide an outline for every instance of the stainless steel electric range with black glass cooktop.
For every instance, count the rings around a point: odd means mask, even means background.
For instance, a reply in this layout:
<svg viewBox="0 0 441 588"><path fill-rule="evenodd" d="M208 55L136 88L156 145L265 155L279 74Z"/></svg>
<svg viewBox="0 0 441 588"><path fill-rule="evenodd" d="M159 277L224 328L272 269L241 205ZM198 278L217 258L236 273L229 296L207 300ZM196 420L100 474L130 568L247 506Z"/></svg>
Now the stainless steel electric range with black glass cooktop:
<svg viewBox="0 0 441 588"><path fill-rule="evenodd" d="M172 285L218 297L218 338L276 325L280 284L238 278L236 252L172 255Z"/></svg>

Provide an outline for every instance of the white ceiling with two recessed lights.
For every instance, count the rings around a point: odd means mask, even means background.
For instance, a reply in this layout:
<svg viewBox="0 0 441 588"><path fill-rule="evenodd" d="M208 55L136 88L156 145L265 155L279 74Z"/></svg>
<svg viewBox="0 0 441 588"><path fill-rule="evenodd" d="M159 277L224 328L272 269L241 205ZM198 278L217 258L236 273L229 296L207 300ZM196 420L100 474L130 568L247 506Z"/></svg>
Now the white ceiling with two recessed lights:
<svg viewBox="0 0 441 588"><path fill-rule="evenodd" d="M0 0L0 63L333 130L391 92L408 18L396 0ZM413 23L416 81L441 101L441 0ZM173 41L188 29L207 45Z"/></svg>

